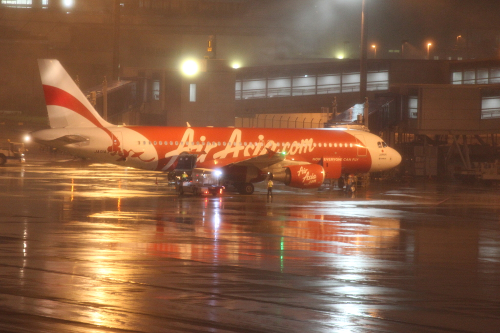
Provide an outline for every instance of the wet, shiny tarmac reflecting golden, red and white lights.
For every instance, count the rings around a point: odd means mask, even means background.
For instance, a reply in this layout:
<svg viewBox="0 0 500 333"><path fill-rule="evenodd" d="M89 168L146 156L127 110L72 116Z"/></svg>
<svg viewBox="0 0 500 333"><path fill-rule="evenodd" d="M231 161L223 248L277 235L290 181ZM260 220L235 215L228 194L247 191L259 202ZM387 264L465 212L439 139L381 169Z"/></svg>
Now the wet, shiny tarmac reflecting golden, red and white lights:
<svg viewBox="0 0 500 333"><path fill-rule="evenodd" d="M498 332L500 196L460 184L178 197L0 168L0 331Z"/></svg>

